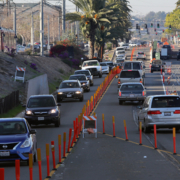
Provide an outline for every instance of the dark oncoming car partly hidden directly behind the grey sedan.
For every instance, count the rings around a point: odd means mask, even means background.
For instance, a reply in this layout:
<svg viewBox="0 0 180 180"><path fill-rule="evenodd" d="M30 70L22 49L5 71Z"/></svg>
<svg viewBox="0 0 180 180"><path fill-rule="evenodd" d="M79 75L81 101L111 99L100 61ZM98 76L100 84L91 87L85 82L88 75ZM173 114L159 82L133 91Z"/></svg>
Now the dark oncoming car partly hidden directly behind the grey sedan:
<svg viewBox="0 0 180 180"><path fill-rule="evenodd" d="M90 91L90 83L85 74L74 74L69 77L69 80L79 80L84 91Z"/></svg>

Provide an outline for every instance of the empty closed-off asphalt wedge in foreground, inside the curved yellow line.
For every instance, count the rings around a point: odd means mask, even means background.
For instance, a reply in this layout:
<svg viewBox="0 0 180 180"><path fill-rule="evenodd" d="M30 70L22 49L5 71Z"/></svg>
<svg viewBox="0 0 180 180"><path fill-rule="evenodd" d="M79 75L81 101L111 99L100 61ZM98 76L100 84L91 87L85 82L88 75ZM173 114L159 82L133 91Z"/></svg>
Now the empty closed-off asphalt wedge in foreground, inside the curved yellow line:
<svg viewBox="0 0 180 180"><path fill-rule="evenodd" d="M179 179L179 171L154 149L102 134L81 137L51 179L91 180L92 175L95 180Z"/></svg>

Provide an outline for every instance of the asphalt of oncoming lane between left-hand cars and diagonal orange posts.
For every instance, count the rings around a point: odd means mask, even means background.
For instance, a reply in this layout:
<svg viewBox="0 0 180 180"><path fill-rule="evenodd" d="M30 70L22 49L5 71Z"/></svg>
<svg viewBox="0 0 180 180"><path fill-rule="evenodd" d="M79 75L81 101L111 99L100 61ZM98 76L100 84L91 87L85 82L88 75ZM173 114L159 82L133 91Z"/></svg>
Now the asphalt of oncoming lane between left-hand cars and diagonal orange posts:
<svg viewBox="0 0 180 180"><path fill-rule="evenodd" d="M32 129L37 130L37 142L38 142L38 148L41 148L41 157L42 157L42 174L45 178L46 176L46 143L51 143L51 141L55 142L55 152L56 152L56 163L58 163L58 135L60 134L63 139L63 133L66 132L66 139L68 142L68 133L69 128L73 128L73 121L76 117L82 112L82 108L87 102L87 100L90 100L91 96L94 95L95 91L97 90L98 86L103 82L106 75L103 75L102 78L94 77L94 86L91 86L90 92L84 93L84 101L79 102L77 100L72 100L69 102L62 102L61 103L61 126L59 128L54 127L54 125L34 125L32 126ZM66 142L66 149L68 146L68 143ZM51 151L50 151L51 152ZM63 146L62 150L63 152ZM50 154L50 164L52 169L52 157ZM9 180L12 178L12 174L14 174L15 167L13 162L5 162L0 163L0 167L5 167L5 180ZM27 174L29 174L28 167L26 165L26 162L21 163L21 179L26 179ZM34 164L33 168L33 174L34 177L38 177L38 164Z"/></svg>

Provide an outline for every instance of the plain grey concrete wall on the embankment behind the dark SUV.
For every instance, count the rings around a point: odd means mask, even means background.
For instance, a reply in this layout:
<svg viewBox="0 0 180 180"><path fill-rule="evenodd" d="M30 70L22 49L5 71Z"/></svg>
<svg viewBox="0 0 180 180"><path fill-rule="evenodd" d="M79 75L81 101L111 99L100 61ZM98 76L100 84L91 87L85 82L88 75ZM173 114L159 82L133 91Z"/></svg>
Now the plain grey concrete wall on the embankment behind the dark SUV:
<svg viewBox="0 0 180 180"><path fill-rule="evenodd" d="M35 77L26 82L26 102L31 95L49 94L47 74Z"/></svg>

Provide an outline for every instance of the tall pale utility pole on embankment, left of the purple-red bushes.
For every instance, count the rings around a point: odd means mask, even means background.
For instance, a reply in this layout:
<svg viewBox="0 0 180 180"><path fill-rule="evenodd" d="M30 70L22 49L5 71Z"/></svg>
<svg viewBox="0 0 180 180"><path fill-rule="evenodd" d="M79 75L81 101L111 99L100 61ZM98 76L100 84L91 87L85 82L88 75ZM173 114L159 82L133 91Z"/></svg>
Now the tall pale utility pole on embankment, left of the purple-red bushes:
<svg viewBox="0 0 180 180"><path fill-rule="evenodd" d="M43 17L43 0L41 0L40 3L40 42L41 42L41 48L40 48L40 55L44 56L44 17Z"/></svg>

